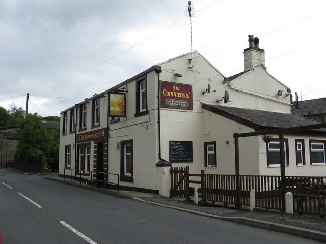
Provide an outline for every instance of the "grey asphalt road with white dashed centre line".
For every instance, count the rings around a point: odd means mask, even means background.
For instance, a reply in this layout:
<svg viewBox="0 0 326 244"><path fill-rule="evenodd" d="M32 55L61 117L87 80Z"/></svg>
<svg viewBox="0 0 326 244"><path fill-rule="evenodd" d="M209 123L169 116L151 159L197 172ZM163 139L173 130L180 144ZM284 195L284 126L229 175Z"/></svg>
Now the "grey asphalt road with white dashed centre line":
<svg viewBox="0 0 326 244"><path fill-rule="evenodd" d="M1 244L319 243L0 169Z"/></svg>

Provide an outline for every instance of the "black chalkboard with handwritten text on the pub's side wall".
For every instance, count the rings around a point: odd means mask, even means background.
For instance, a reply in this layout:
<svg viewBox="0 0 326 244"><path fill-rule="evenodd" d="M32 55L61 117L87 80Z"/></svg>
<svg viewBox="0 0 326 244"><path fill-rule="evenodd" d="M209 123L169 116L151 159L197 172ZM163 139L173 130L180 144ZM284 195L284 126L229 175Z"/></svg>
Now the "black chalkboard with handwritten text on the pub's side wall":
<svg viewBox="0 0 326 244"><path fill-rule="evenodd" d="M193 162L192 141L169 141L170 162Z"/></svg>

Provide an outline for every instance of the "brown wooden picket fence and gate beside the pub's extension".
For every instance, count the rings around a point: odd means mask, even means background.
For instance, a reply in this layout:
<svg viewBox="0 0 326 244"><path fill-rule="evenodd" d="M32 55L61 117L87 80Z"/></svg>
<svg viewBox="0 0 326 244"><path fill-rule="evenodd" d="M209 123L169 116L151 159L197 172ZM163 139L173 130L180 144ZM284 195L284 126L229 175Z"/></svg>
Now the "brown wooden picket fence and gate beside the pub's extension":
<svg viewBox="0 0 326 244"><path fill-rule="evenodd" d="M239 175L239 189L236 188L236 175L190 174L185 168L171 168L171 197L190 199L194 184L200 187L202 204L210 201L250 206L250 191L255 191L255 206L266 209L284 209L282 204L280 176ZM194 180L197 177L197 180ZM192 184L192 185L191 185ZM326 177L286 176L284 187L293 194L295 212L326 215Z"/></svg>

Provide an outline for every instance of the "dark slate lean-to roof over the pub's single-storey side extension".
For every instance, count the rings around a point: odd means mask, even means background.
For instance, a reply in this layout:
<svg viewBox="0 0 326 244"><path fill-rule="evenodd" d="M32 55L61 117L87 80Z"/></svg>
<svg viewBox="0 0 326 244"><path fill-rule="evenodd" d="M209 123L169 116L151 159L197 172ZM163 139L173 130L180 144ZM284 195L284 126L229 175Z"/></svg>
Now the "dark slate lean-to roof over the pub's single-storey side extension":
<svg viewBox="0 0 326 244"><path fill-rule="evenodd" d="M205 104L205 109L229 117L232 120L238 121L241 124L248 125L256 130L259 129L279 129L297 126L308 126L320 124L316 120L308 119L301 115L291 113L277 113L256 109L235 108L220 105ZM326 133L326 128L318 129L319 132Z"/></svg>

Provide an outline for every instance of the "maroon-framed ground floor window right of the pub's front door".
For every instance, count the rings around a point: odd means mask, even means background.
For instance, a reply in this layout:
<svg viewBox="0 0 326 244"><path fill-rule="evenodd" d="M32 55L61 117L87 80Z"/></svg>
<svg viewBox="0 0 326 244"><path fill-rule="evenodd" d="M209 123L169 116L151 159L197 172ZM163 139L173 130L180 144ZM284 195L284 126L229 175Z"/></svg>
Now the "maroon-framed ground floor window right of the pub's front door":
<svg viewBox="0 0 326 244"><path fill-rule="evenodd" d="M120 144L120 180L133 182L132 140L121 141Z"/></svg>

